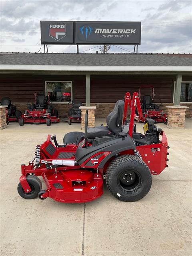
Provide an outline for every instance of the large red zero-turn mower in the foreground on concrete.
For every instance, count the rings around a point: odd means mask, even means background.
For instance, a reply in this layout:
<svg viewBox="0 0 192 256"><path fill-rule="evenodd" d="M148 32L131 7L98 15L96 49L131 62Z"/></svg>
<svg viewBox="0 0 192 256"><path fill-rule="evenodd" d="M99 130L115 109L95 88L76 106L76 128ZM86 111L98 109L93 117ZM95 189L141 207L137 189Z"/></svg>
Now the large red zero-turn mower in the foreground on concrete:
<svg viewBox="0 0 192 256"><path fill-rule="evenodd" d="M95 200L103 194L103 182L119 200L140 200L149 192L152 176L167 165L168 144L165 133L147 119L145 134L133 132L134 112L140 104L138 93L132 97L130 122L127 122L128 94L119 100L107 117L108 126L88 128L85 133L69 132L58 144L56 136L36 146L35 157L21 165L18 193L25 199L50 197L64 203ZM160 138L161 137L161 138ZM46 190L42 189L42 176Z"/></svg>

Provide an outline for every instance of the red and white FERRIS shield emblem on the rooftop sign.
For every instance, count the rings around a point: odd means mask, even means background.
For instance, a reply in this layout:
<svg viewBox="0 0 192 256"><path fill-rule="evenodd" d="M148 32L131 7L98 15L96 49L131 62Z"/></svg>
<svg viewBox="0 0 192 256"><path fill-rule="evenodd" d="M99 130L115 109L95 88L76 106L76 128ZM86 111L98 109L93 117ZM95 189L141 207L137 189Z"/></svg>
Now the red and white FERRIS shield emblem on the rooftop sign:
<svg viewBox="0 0 192 256"><path fill-rule="evenodd" d="M66 24L49 24L49 35L56 41L66 36Z"/></svg>

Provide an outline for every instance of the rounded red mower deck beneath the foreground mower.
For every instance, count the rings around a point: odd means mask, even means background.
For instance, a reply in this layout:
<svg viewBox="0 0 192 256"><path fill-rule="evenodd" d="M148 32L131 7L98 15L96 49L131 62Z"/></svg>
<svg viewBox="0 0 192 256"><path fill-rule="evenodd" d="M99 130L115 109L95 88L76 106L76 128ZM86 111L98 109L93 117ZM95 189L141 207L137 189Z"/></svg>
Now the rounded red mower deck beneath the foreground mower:
<svg viewBox="0 0 192 256"><path fill-rule="evenodd" d="M68 170L58 174L42 173L48 187L41 198L50 197L64 203L84 203L102 196L103 179L88 170Z"/></svg>

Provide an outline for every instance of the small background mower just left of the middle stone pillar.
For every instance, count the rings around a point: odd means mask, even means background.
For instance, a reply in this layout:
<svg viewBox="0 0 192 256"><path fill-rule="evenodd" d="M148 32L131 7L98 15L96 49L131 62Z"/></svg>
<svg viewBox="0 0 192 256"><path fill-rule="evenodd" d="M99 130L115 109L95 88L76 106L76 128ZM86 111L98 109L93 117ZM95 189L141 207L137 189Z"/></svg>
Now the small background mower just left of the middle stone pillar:
<svg viewBox="0 0 192 256"><path fill-rule="evenodd" d="M70 102L68 103L70 104ZM82 102L77 100L72 100L72 108L68 111L68 124L71 125L72 122L81 122L81 109L83 106Z"/></svg>

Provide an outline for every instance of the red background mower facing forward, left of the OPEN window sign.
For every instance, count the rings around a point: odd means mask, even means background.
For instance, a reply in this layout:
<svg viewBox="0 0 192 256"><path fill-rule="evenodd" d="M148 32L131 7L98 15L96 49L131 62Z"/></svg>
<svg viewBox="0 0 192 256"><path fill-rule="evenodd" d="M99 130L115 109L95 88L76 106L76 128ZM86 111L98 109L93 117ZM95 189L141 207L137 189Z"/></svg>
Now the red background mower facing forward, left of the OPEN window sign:
<svg viewBox="0 0 192 256"><path fill-rule="evenodd" d="M51 123L58 123L60 118L58 118L58 111L53 108L50 101L49 95L48 98L44 94L35 96L35 104L29 104L28 109L25 110L24 115L19 119L19 125L24 125L25 123L41 124L46 123L48 126Z"/></svg>

